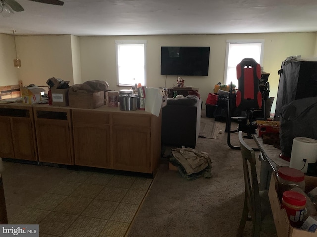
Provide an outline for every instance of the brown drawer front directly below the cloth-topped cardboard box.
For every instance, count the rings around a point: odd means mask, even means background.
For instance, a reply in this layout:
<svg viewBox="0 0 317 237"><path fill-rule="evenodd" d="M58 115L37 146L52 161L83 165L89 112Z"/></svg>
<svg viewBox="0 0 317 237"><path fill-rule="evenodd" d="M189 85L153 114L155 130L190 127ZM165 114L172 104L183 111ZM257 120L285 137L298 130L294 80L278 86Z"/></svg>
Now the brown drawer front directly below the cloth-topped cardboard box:
<svg viewBox="0 0 317 237"><path fill-rule="evenodd" d="M72 110L73 123L95 123L95 124L109 124L110 116L104 112L90 112L90 111L76 111Z"/></svg>

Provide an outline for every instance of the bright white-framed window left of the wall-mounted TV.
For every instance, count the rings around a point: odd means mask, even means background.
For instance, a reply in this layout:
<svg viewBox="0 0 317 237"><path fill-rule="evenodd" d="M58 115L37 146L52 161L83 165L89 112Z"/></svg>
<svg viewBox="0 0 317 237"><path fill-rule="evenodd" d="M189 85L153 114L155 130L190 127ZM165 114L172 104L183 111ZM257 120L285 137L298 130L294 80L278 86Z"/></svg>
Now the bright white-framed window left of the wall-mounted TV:
<svg viewBox="0 0 317 237"><path fill-rule="evenodd" d="M116 40L117 85L146 86L146 40Z"/></svg>

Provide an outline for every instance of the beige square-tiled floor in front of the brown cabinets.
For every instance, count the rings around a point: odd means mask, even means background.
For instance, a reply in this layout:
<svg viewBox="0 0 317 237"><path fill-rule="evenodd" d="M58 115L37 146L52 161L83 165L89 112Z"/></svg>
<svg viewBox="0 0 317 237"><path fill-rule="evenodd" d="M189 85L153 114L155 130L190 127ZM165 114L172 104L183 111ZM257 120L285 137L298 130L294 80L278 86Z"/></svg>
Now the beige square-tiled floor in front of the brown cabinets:
<svg viewBox="0 0 317 237"><path fill-rule="evenodd" d="M124 237L152 178L2 161L9 224L40 237Z"/></svg>

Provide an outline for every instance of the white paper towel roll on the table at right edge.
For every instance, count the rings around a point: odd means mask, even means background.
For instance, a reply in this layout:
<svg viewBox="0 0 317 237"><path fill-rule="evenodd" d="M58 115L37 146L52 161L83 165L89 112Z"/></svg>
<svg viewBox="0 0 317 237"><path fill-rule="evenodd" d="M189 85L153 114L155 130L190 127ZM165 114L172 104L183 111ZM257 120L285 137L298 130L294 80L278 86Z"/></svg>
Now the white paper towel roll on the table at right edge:
<svg viewBox="0 0 317 237"><path fill-rule="evenodd" d="M306 159L306 163L303 161ZM307 173L307 166L317 160L317 140L308 137L293 139L291 161L289 167Z"/></svg>

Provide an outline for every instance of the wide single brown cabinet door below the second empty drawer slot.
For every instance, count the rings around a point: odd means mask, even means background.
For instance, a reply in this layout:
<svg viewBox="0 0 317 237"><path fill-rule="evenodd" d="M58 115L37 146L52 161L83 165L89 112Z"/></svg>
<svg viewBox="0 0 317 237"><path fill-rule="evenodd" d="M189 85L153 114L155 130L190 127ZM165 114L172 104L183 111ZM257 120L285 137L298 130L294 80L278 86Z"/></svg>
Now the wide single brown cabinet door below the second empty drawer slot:
<svg viewBox="0 0 317 237"><path fill-rule="evenodd" d="M39 119L35 126L39 161L73 165L68 121Z"/></svg>

